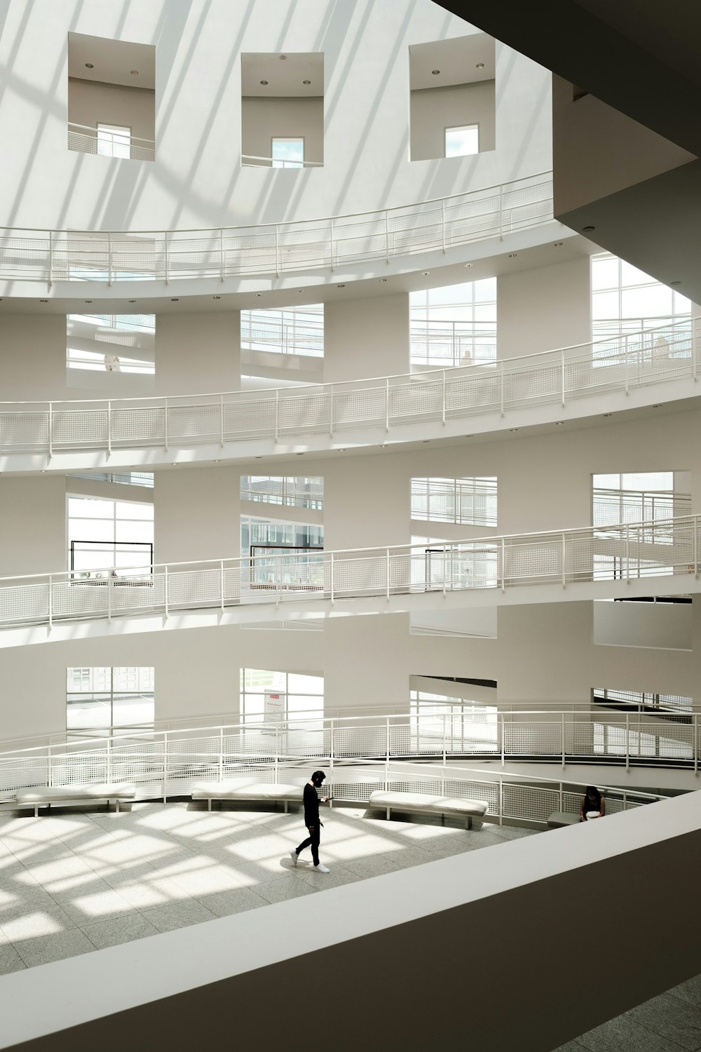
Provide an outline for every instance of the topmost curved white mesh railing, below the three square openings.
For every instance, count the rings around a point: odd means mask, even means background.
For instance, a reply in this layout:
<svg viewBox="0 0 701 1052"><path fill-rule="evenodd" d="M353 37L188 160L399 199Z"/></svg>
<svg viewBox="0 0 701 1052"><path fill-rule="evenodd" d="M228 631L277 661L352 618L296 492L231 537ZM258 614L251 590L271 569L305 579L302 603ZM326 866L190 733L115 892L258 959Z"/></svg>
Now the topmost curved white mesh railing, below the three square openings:
<svg viewBox="0 0 701 1052"><path fill-rule="evenodd" d="M97 148L97 139L86 143ZM448 251L552 219L552 173L542 171L396 208L290 223L129 232L0 227L0 278L49 285L270 278Z"/></svg>

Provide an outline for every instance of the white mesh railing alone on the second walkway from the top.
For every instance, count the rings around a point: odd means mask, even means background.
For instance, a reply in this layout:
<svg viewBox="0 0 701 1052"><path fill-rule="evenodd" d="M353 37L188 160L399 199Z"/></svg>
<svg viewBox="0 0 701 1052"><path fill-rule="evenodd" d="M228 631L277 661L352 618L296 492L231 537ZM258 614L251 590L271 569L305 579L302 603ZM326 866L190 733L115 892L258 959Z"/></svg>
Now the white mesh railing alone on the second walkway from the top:
<svg viewBox="0 0 701 1052"><path fill-rule="evenodd" d="M95 451L220 444L253 439L374 430L447 423L482 413L504 417L536 405L566 406L581 398L648 384L696 380L701 324L669 336L663 357L654 331L598 344L500 359L489 365L437 369L334 384L215 394L1 402L0 452ZM671 348L671 349L669 349Z"/></svg>

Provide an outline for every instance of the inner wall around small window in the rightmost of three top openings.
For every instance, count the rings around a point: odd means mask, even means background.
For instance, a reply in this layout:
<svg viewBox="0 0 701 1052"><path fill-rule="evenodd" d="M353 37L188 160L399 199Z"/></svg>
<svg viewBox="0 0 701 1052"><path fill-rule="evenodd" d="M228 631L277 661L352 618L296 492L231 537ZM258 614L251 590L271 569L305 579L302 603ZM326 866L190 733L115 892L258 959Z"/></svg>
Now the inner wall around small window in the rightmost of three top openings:
<svg viewBox="0 0 701 1052"><path fill-rule="evenodd" d="M479 153L496 149L496 101L493 80L411 93L411 159L446 156L446 128L479 125Z"/></svg>

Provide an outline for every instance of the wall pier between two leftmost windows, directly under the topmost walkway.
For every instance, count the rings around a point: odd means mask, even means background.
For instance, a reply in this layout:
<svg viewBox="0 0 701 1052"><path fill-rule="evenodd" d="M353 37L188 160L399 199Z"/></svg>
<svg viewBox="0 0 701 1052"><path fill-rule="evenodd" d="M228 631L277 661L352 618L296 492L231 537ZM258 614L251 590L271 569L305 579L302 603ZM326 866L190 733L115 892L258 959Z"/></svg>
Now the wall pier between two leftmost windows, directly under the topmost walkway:
<svg viewBox="0 0 701 1052"><path fill-rule="evenodd" d="M157 315L158 394L207 394L240 387L240 310Z"/></svg>

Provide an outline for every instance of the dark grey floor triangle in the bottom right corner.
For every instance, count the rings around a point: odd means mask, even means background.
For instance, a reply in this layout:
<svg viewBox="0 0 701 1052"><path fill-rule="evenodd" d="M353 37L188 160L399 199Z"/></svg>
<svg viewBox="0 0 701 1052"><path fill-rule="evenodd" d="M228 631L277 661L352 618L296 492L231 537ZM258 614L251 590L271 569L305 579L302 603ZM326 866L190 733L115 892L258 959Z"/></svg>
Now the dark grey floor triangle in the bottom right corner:
<svg viewBox="0 0 701 1052"><path fill-rule="evenodd" d="M701 975L637 1005L555 1052L700 1052Z"/></svg>

